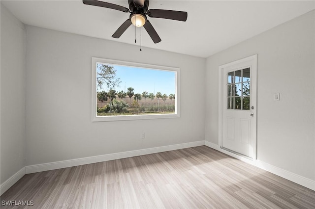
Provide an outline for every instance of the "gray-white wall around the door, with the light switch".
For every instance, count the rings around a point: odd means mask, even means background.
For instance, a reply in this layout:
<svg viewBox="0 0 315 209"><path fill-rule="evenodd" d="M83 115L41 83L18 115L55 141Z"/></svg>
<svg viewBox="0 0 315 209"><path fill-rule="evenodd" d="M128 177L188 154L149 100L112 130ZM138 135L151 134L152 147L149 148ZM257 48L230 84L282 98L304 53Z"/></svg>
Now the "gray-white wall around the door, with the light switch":
<svg viewBox="0 0 315 209"><path fill-rule="evenodd" d="M219 66L256 53L258 160L315 180L315 10L207 58L205 139L218 144Z"/></svg>

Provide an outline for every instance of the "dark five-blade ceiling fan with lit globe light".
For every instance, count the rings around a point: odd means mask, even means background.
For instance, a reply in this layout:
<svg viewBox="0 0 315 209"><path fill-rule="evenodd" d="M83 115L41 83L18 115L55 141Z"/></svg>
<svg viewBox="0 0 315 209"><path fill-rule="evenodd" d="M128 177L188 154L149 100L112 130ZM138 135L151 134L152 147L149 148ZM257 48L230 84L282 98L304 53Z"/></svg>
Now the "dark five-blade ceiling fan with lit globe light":
<svg viewBox="0 0 315 209"><path fill-rule="evenodd" d="M84 4L100 6L110 9L116 9L122 12L131 13L129 19L126 20L112 35L113 38L119 38L126 29L133 24L137 27L144 27L149 33L153 42L156 44L161 41L157 31L154 29L150 21L147 19L148 15L151 18L164 18L170 20L187 20L187 12L164 10L164 9L149 9L149 0L128 0L129 9L113 3L108 3L99 0L83 0Z"/></svg>

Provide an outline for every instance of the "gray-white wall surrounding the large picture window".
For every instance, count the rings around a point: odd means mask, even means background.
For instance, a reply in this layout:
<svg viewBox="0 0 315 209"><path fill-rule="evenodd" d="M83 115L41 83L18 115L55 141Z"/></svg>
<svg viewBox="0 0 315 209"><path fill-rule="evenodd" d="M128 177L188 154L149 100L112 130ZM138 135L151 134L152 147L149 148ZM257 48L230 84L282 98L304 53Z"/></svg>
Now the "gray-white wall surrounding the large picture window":
<svg viewBox="0 0 315 209"><path fill-rule="evenodd" d="M204 140L206 59L139 49L27 26L27 165ZM92 56L179 67L181 117L92 123Z"/></svg>

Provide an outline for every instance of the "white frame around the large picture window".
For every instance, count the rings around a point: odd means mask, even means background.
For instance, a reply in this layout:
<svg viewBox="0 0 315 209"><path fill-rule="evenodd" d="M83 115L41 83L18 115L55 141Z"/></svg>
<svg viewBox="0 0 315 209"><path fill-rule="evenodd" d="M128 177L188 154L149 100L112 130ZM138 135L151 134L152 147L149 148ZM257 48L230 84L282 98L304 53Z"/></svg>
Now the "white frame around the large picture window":
<svg viewBox="0 0 315 209"><path fill-rule="evenodd" d="M113 65L124 65L130 67L151 69L151 70L164 70L175 72L175 113L170 114L148 114L148 115L115 115L115 116L97 116L96 105L97 105L97 87L96 87L96 63L105 63ZM125 120L147 120L147 119L162 119L162 118L179 118L180 117L180 68L167 67L151 64L143 64L136 62L127 62L114 59L92 57L92 122L101 121L125 121Z"/></svg>

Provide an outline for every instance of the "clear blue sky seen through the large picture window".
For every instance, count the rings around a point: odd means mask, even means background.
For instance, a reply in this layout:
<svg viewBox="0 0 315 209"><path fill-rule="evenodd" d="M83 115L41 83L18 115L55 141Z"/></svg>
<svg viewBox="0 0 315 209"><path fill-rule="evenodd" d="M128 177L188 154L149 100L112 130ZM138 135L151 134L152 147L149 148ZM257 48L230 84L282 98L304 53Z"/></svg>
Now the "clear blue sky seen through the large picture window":
<svg viewBox="0 0 315 209"><path fill-rule="evenodd" d="M128 87L134 89L134 93L175 94L175 72L164 70L152 70L122 65L113 65L116 70L116 77L121 79L120 87L116 87L117 92L126 91ZM105 89L106 91L106 89Z"/></svg>

